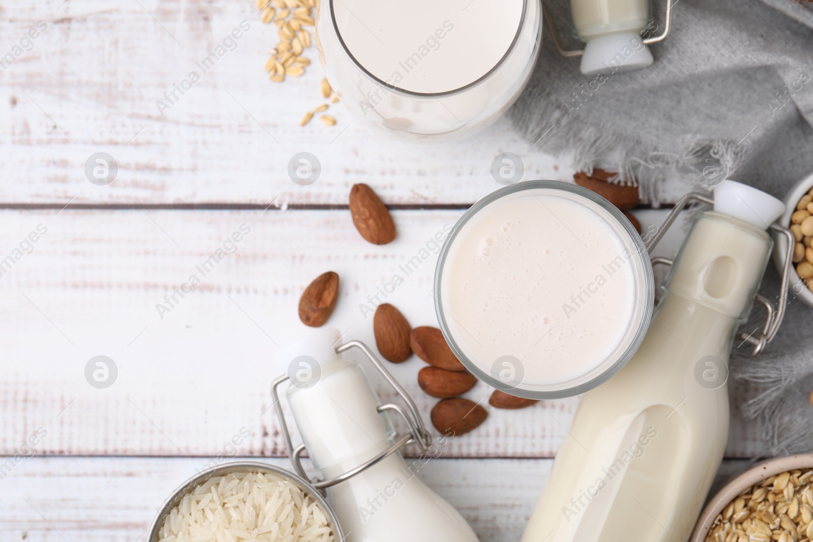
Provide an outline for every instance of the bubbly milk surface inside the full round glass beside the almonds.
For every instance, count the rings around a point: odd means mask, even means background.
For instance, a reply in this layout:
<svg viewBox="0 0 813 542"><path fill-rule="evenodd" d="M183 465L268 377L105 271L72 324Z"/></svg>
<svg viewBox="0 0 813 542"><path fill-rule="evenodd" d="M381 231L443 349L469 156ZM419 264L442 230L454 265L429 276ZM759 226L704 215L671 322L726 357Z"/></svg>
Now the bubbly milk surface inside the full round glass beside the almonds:
<svg viewBox="0 0 813 542"><path fill-rule="evenodd" d="M633 319L633 264L593 202L526 189L481 209L454 238L441 301L454 340L491 372L520 360L524 384L576 379L606 360Z"/></svg>

